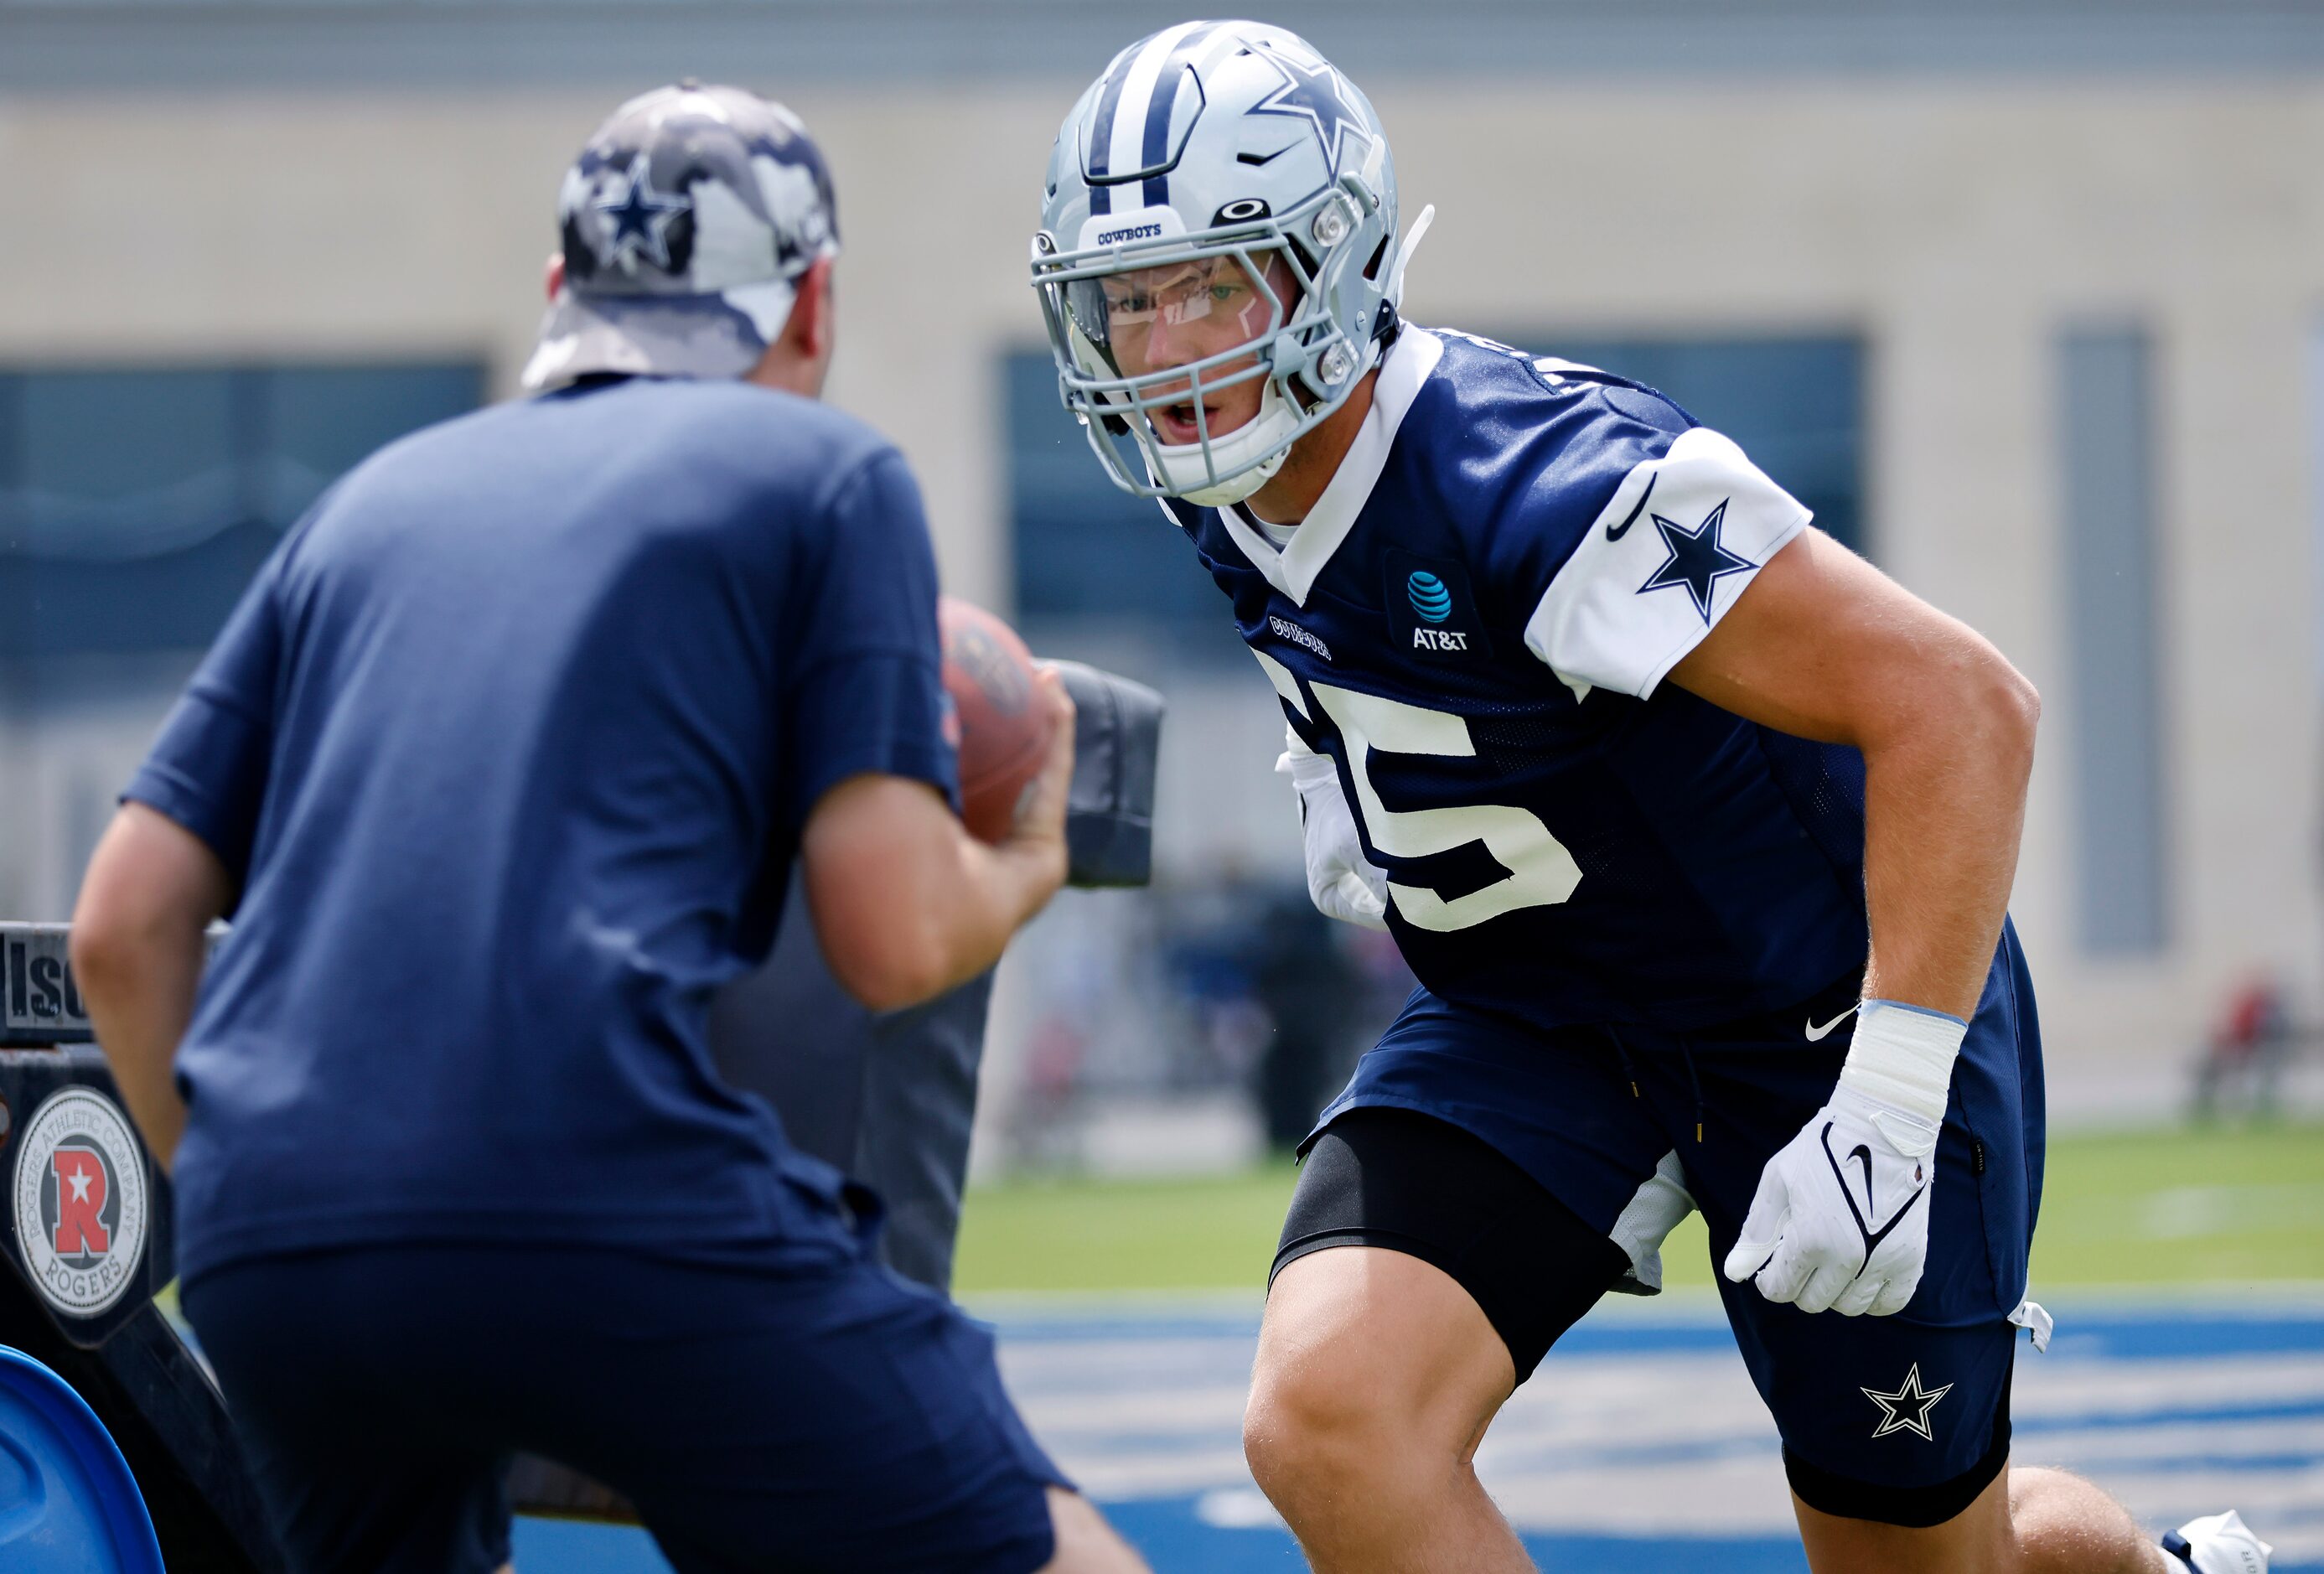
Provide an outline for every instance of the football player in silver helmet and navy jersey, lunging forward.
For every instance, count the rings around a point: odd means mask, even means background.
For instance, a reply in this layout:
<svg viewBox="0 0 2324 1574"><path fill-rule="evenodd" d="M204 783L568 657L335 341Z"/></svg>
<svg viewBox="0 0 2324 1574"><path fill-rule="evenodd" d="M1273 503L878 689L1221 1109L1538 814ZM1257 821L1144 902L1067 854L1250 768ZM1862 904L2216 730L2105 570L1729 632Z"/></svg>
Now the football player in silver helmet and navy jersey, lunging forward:
<svg viewBox="0 0 2324 1574"><path fill-rule="evenodd" d="M1478 1439L1701 1209L1815 1569L2180 1567L2008 1467L2033 688L1652 388L1404 323L1427 221L1329 60L1202 21L1081 95L1034 235L1067 409L1283 700L1318 907L1420 976L1306 1139L1253 1474L1318 1569L1529 1567Z"/></svg>

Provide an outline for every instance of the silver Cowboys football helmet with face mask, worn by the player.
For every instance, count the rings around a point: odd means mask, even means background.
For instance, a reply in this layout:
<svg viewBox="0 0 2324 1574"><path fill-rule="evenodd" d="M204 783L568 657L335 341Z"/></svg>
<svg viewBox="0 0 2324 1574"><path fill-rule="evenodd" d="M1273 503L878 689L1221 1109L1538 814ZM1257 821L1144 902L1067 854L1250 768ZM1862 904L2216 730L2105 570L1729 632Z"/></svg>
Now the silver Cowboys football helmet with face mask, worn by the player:
<svg viewBox="0 0 2324 1574"><path fill-rule="evenodd" d="M1299 35L1188 21L1118 53L1064 116L1032 244L1060 395L1113 481L1204 507L1264 486L1394 337L1427 221L1397 244L1380 119ZM1213 432L1253 384L1257 414Z"/></svg>

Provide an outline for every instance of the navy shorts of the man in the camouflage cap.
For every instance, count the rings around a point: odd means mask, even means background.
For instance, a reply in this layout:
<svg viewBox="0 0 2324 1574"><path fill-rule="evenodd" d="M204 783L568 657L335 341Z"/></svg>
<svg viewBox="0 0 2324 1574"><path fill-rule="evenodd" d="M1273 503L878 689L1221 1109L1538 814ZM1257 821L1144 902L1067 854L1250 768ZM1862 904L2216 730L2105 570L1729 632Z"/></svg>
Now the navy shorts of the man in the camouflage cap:
<svg viewBox="0 0 2324 1574"><path fill-rule="evenodd" d="M184 1288L297 1574L486 1574L514 1451L637 1504L681 1574L1030 1574L1067 1486L992 1337L867 1255L363 1246Z"/></svg>

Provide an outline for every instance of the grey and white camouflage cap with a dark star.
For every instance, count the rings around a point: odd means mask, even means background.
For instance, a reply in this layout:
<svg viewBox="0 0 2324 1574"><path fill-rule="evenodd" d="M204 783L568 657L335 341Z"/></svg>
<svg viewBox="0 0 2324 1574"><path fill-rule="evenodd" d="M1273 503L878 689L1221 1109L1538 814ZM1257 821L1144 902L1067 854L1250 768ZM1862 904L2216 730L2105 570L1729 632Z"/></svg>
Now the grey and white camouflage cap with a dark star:
<svg viewBox="0 0 2324 1574"><path fill-rule="evenodd" d="M597 128L558 193L565 284L525 388L593 372L741 377L797 277L839 251L832 177L790 109L681 81Z"/></svg>

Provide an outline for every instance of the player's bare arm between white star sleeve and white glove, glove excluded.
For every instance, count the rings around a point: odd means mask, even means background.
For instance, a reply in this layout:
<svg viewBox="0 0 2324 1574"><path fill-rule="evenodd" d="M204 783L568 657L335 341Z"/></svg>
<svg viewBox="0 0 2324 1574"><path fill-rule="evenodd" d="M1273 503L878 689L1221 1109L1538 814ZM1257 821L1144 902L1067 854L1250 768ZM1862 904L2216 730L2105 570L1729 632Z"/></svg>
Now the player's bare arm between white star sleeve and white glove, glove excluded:
<svg viewBox="0 0 2324 1574"><path fill-rule="evenodd" d="M1669 681L1864 753L1864 995L1971 1016L2017 872L2033 686L1820 530L1778 551Z"/></svg>

